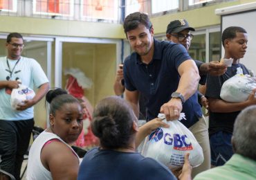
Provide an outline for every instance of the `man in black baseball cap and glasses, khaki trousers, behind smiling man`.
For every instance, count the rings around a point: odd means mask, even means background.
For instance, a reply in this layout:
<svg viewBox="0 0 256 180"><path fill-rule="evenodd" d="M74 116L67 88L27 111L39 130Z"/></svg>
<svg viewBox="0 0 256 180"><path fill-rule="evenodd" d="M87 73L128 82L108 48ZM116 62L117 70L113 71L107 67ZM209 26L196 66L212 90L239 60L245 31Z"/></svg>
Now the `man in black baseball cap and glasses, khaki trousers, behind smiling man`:
<svg viewBox="0 0 256 180"><path fill-rule="evenodd" d="M185 19L174 20L171 21L167 26L166 37L170 42L182 44L188 51L190 48L191 40L193 38L193 35L190 33L190 31L194 31L194 28L190 27L188 21ZM221 75L226 71L226 66L221 64L203 63L197 60L195 60L195 62L201 75L201 80L199 81L200 84L205 84L208 73L211 75ZM205 97L201 94L199 99L203 100L203 98ZM199 167L193 169L192 177L194 177L199 172L210 169L210 143L208 127L206 126L205 118L203 116L198 118L198 123L194 124L189 129L203 148L204 161L201 165L199 165Z"/></svg>

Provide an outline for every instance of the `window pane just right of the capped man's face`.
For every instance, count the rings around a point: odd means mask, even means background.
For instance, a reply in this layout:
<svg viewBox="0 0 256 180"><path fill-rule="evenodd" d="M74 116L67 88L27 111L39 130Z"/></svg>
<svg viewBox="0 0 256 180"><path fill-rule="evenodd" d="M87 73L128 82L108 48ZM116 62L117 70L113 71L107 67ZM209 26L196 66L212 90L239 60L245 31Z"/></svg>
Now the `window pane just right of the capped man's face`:
<svg viewBox="0 0 256 180"><path fill-rule="evenodd" d="M205 35L194 35L188 53L193 60L205 62Z"/></svg>

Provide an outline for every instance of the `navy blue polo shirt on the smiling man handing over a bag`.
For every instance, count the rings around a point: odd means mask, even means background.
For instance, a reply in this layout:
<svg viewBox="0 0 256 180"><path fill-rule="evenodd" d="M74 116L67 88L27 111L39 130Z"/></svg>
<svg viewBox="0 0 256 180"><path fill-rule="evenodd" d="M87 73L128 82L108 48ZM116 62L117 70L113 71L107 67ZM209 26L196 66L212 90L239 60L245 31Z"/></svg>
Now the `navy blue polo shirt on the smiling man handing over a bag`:
<svg viewBox="0 0 256 180"><path fill-rule="evenodd" d="M140 55L131 53L124 63L125 88L138 90L145 97L147 120L156 118L161 106L168 102L179 85L179 65L191 60L188 51L181 44L159 42L154 39L154 56L149 64L140 60ZM187 120L183 125L190 127L202 116L197 93L194 93L183 105L182 112Z"/></svg>

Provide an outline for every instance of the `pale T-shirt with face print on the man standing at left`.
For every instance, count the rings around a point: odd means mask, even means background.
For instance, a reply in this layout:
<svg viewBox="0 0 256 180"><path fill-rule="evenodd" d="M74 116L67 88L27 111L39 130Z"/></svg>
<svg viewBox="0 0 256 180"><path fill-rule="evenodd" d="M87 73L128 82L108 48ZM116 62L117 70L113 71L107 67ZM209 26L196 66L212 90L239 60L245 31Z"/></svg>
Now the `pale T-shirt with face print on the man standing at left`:
<svg viewBox="0 0 256 180"><path fill-rule="evenodd" d="M48 82L46 74L36 60L21 57L19 62L17 61L8 60L7 57L0 57L0 81L7 80L7 78L10 78L10 80L17 80L19 78L22 84L31 89L34 87L38 88ZM12 77L10 77L10 71L12 71ZM12 109L10 105L10 92L8 93L6 88L0 89L0 102L0 120L27 120L34 116L33 107L24 111Z"/></svg>

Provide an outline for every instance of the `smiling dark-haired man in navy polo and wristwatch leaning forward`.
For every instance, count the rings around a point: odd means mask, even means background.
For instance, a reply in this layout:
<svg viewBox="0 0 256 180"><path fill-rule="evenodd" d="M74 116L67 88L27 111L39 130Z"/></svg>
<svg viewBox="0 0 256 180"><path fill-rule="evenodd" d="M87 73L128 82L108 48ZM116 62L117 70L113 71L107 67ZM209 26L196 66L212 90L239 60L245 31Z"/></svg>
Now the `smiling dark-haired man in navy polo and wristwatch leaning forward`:
<svg viewBox="0 0 256 180"><path fill-rule="evenodd" d="M125 98L136 116L143 94L147 120L156 118L159 112L167 120L176 120L185 109L186 120L181 122L188 128L196 125L202 116L196 94L200 77L185 47L154 39L149 17L140 12L125 18L124 30L134 49L124 64Z"/></svg>

